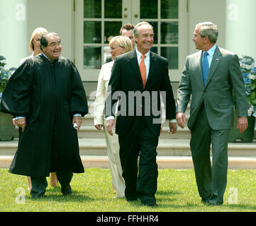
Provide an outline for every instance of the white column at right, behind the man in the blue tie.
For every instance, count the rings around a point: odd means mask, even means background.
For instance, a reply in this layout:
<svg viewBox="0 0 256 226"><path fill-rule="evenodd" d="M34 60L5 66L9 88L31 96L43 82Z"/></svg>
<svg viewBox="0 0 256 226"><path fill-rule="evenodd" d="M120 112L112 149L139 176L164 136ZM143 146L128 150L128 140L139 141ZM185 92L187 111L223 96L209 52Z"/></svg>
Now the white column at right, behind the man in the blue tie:
<svg viewBox="0 0 256 226"><path fill-rule="evenodd" d="M226 49L256 60L256 1L226 0Z"/></svg>

